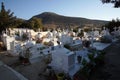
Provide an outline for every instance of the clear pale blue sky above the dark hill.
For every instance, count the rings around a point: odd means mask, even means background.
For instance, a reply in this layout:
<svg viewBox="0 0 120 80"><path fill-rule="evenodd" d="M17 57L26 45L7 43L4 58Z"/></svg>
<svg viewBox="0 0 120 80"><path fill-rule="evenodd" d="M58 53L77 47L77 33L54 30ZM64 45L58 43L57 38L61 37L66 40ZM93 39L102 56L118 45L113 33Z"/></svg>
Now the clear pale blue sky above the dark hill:
<svg viewBox="0 0 120 80"><path fill-rule="evenodd" d="M0 0L14 16L30 19L42 12L89 19L112 20L120 17L120 8L100 0ZM1 9L1 8L0 8Z"/></svg>

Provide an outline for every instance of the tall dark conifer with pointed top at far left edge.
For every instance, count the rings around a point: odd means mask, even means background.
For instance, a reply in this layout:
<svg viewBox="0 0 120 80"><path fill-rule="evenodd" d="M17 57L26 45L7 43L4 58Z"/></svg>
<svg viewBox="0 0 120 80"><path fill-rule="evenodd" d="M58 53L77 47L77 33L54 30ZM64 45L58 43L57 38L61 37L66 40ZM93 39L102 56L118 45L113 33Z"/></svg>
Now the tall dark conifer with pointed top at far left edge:
<svg viewBox="0 0 120 80"><path fill-rule="evenodd" d="M6 11L4 3L1 3L1 11L0 11L0 33L5 30L6 28L9 28L14 25L14 21L16 20L16 17L13 17L13 12L10 10Z"/></svg>

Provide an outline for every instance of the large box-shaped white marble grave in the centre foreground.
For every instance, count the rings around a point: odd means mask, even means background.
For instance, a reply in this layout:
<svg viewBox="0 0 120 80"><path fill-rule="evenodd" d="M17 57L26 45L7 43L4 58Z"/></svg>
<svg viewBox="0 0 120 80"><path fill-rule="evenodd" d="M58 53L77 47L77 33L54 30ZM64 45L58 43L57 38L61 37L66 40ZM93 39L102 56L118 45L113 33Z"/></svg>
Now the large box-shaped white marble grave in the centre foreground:
<svg viewBox="0 0 120 80"><path fill-rule="evenodd" d="M75 54L66 48L59 48L52 51L51 66L58 72L64 71L69 73L69 70L74 67Z"/></svg>

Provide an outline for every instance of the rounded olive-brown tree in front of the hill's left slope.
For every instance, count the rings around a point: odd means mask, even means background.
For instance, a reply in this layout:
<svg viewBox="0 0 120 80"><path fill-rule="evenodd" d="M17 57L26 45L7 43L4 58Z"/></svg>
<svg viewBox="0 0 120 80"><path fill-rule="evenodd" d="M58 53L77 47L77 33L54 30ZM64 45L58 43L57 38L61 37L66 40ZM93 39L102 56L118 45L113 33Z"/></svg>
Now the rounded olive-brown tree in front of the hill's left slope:
<svg viewBox="0 0 120 80"><path fill-rule="evenodd" d="M29 24L32 29L38 30L43 28L42 20L36 17L33 17L30 21Z"/></svg>

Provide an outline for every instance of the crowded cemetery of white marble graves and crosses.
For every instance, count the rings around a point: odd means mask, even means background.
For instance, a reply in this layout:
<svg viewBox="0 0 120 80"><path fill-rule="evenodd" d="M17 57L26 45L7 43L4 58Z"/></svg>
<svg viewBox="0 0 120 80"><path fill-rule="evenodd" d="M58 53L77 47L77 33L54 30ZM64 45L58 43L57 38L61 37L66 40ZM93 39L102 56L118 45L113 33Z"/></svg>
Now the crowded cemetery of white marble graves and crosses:
<svg viewBox="0 0 120 80"><path fill-rule="evenodd" d="M80 32L81 29L78 30ZM70 35L72 33L74 36ZM92 68L102 62L103 50L119 39L120 28L115 27L111 33L105 27L102 31L92 29L84 32L83 37L77 36L78 33L73 30L34 32L14 29L6 30L1 37L7 55L18 57L21 65L44 61L53 70L50 73L55 72L57 78L62 73L75 80L78 73L82 76L80 78L87 78Z"/></svg>

